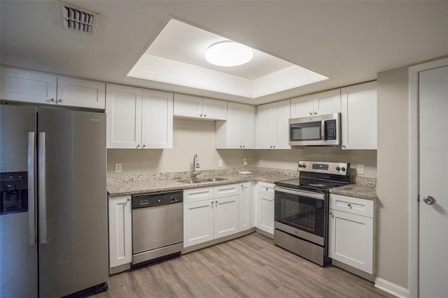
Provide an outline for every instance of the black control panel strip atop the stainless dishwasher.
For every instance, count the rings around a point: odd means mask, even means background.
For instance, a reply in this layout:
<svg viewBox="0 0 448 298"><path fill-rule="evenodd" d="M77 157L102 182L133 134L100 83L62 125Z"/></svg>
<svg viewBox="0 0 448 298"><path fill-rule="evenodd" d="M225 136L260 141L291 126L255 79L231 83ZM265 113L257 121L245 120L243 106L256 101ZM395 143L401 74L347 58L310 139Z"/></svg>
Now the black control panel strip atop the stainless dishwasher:
<svg viewBox="0 0 448 298"><path fill-rule="evenodd" d="M151 192L148 194L134 194L132 196L132 209L181 203L182 201L182 190L172 190L168 192Z"/></svg>

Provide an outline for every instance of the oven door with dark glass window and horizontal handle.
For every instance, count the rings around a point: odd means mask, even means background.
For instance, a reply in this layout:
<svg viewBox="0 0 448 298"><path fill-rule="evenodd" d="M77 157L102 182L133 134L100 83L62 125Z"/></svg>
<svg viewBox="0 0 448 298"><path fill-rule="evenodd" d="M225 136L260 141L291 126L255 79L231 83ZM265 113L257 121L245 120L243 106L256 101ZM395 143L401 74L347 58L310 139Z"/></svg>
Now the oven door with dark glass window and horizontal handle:
<svg viewBox="0 0 448 298"><path fill-rule="evenodd" d="M274 227L325 246L326 194L275 186Z"/></svg>

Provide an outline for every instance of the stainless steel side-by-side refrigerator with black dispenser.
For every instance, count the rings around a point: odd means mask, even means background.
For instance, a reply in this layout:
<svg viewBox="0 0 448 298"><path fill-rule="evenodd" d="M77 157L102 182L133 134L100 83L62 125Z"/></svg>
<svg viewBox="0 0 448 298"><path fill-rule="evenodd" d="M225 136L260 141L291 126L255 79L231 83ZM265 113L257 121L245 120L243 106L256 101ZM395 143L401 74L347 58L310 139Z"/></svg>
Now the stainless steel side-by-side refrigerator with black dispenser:
<svg viewBox="0 0 448 298"><path fill-rule="evenodd" d="M106 115L0 105L0 180L0 297L106 290Z"/></svg>

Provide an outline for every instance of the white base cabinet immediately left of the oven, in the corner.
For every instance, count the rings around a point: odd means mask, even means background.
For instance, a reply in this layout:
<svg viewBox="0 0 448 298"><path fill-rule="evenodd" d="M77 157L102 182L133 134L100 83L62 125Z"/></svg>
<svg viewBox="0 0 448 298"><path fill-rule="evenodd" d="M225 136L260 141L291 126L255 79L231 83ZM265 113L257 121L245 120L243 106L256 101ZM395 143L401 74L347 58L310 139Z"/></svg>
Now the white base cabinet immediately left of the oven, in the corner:
<svg viewBox="0 0 448 298"><path fill-rule="evenodd" d="M274 235L274 184L258 182L255 227Z"/></svg>

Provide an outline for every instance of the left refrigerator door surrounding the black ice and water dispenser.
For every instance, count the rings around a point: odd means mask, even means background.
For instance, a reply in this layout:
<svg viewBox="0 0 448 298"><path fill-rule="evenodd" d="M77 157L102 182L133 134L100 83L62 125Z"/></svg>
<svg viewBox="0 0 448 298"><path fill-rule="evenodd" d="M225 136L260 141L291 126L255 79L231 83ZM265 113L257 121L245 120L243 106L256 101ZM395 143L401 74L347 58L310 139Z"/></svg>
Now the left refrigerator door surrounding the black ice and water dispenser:
<svg viewBox="0 0 448 298"><path fill-rule="evenodd" d="M0 215L2 298L37 297L36 220L31 211L35 206L31 191L35 184L35 131L36 108L0 105L0 172L28 173L28 211Z"/></svg>

